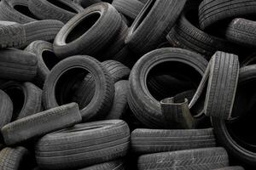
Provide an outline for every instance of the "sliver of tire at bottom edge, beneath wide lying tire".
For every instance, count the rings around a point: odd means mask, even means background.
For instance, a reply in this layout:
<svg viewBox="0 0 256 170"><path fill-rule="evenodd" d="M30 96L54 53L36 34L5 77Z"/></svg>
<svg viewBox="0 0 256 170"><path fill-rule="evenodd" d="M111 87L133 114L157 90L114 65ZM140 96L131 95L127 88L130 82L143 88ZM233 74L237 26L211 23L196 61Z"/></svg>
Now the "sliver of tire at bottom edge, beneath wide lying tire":
<svg viewBox="0 0 256 170"><path fill-rule="evenodd" d="M107 163L85 167L79 170L125 170L125 167L123 161L109 161Z"/></svg>

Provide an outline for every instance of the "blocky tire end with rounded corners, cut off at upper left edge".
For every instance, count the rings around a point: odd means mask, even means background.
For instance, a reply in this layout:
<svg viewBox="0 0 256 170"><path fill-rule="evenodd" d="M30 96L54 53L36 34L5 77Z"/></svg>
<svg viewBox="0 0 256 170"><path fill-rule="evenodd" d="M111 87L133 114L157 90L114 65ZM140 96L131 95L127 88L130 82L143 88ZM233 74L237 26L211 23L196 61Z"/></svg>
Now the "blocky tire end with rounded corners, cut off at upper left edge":
<svg viewBox="0 0 256 170"><path fill-rule="evenodd" d="M20 24L0 26L0 48L19 48L26 42L26 31Z"/></svg>

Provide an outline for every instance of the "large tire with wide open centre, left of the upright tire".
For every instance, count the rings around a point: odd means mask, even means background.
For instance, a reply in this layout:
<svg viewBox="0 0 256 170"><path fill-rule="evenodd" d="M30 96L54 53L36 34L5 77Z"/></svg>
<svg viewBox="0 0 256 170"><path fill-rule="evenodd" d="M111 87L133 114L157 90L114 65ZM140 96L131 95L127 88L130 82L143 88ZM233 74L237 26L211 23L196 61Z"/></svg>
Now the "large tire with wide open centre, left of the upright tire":
<svg viewBox="0 0 256 170"><path fill-rule="evenodd" d="M198 79L198 82L200 82L207 68L207 60L201 55L180 48L156 49L137 61L136 65L134 65L131 70L129 78L130 90L128 94L128 104L131 111L137 116L137 119L151 128L165 128L166 125L160 110L160 101L154 99L154 97L148 93L148 90L145 90L147 87L146 75L154 66L164 62L178 62L189 66L189 68L193 68L193 70L196 71L196 75L194 75L196 77L193 78ZM187 72L188 71L186 71L186 74ZM193 75L189 75L188 72L187 77L192 78L192 76ZM141 77L143 77L143 79ZM147 108L147 110L144 108Z"/></svg>

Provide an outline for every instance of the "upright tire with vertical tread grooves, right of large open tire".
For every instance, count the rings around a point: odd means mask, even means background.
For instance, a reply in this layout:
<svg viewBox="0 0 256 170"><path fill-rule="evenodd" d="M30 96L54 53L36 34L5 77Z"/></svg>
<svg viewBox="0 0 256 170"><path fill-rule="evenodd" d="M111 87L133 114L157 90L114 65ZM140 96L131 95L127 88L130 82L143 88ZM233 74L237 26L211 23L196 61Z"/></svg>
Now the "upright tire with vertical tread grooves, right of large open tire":
<svg viewBox="0 0 256 170"><path fill-rule="evenodd" d="M219 119L231 119L239 77L238 56L218 51L212 56L208 68L205 114Z"/></svg>

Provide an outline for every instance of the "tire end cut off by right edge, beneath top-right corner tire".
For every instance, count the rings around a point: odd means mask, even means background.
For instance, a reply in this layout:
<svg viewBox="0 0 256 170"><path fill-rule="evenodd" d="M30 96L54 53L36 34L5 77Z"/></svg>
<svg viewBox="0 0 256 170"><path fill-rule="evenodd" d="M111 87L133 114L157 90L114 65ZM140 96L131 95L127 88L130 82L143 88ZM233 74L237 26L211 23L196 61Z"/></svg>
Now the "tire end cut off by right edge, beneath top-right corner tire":
<svg viewBox="0 0 256 170"><path fill-rule="evenodd" d="M234 19L226 30L226 38L241 46L255 48L256 22L253 20Z"/></svg>

